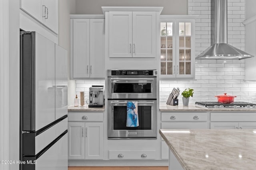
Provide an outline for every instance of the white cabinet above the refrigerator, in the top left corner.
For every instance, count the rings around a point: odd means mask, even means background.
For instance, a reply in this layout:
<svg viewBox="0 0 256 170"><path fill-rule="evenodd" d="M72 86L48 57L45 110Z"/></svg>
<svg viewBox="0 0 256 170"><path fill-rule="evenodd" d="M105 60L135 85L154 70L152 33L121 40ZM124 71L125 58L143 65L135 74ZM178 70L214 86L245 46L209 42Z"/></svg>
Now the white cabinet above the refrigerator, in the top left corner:
<svg viewBox="0 0 256 170"><path fill-rule="evenodd" d="M58 34L58 0L21 0L20 8Z"/></svg>

